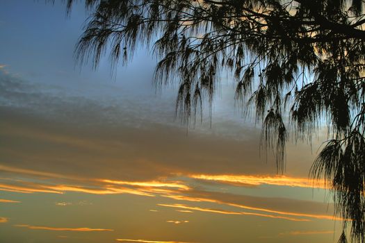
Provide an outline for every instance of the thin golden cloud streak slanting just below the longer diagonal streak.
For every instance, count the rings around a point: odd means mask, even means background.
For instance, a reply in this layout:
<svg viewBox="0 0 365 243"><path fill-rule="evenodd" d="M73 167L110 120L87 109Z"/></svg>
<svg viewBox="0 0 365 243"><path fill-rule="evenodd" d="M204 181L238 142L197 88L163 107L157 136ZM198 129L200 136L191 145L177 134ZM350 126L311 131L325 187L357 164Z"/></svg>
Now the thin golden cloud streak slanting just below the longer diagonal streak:
<svg viewBox="0 0 365 243"><path fill-rule="evenodd" d="M200 207L191 207L186 206L184 204L157 204L159 206L163 207L170 207L170 208L184 208L187 210L196 210L201 212L214 212L222 215L252 215L252 216L259 216L259 217L268 217L273 219L286 219L291 221L310 221L309 219L296 219L292 217L284 217L284 216L277 216L277 215L265 215L261 213L255 213L255 212L234 212L234 211L228 211L228 210L222 210L222 209L213 209L213 208L200 208Z"/></svg>

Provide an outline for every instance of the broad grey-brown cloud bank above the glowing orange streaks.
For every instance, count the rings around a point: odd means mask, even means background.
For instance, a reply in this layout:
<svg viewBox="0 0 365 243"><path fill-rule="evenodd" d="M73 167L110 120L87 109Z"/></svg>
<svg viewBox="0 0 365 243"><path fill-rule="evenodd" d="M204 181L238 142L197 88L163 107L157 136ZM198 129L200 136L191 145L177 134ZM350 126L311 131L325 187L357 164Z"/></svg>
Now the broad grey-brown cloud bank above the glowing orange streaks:
<svg viewBox="0 0 365 243"><path fill-rule="evenodd" d="M1 74L0 86L4 165L118 179L276 172L273 160L259 156L259 129L234 120L218 121L211 130L190 129L187 135L178 122L163 122L173 110L148 110L154 105L143 107L148 101L136 97L116 103L110 93L110 99L98 101L8 74ZM305 167L299 174L307 176L309 165L295 168Z"/></svg>

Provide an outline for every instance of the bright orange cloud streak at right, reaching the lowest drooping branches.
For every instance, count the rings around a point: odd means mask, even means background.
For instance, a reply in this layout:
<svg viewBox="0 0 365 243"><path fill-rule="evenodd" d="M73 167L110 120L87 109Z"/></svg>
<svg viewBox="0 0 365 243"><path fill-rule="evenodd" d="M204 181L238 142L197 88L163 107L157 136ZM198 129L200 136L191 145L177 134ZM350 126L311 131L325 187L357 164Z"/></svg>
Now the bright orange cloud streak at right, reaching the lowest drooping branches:
<svg viewBox="0 0 365 243"><path fill-rule="evenodd" d="M317 187L325 188L325 181L310 181L308 178L295 178L290 176L246 176L246 175L206 175L206 174L192 174L190 178L217 181L226 184L239 185L282 185L289 187Z"/></svg>

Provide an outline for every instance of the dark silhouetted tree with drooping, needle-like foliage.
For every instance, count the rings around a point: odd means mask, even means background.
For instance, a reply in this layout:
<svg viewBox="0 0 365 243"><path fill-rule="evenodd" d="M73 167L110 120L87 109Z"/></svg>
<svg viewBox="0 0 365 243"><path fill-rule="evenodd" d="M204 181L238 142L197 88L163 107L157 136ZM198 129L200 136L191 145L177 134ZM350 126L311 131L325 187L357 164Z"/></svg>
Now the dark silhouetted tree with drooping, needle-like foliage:
<svg viewBox="0 0 365 243"><path fill-rule="evenodd" d="M327 124L311 176L325 178L350 237L365 242L365 14L363 0L86 0L76 58L125 64L140 45L160 58L156 85L178 83L184 123L211 108L221 72L255 110L262 144L284 168L289 115L296 140ZM67 0L70 10L72 0ZM249 110L249 109L248 109ZM346 236L341 235L341 242Z"/></svg>

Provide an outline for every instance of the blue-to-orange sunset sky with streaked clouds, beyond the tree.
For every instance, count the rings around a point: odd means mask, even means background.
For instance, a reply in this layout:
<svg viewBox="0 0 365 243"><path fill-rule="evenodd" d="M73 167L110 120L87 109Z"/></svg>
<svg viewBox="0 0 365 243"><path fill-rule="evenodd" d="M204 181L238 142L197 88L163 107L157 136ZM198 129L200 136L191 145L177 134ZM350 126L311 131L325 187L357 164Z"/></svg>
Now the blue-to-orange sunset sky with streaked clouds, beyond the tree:
<svg viewBox="0 0 365 243"><path fill-rule="evenodd" d="M341 218L308 176L325 136L291 139L277 174L232 78L211 126L206 110L187 127L148 49L115 72L76 64L87 17L0 0L0 242L336 242Z"/></svg>

